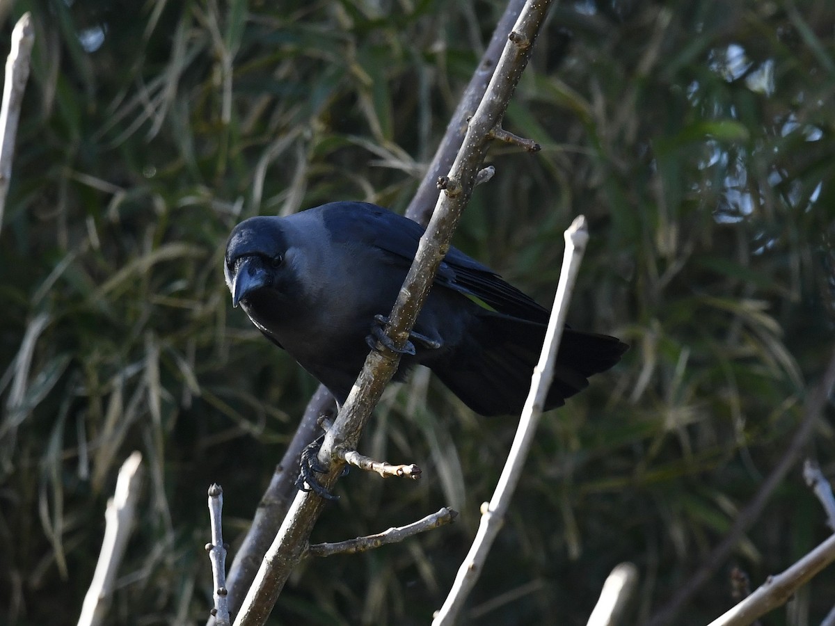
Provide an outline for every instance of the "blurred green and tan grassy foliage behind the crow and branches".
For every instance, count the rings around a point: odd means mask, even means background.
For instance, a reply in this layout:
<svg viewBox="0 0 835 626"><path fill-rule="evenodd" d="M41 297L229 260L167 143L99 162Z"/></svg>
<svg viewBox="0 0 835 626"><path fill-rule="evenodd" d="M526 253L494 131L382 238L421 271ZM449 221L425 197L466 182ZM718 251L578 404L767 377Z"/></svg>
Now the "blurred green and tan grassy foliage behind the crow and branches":
<svg viewBox="0 0 835 626"><path fill-rule="evenodd" d="M232 310L242 218L332 199L402 210L502 2L18 0L37 41L0 241L0 622L74 623L119 464L147 481L113 623L210 608L205 490L234 543L314 381ZM573 40L563 54L560 28ZM562 230L592 240L574 326L633 347L546 419L469 623L585 623L615 563L644 623L785 452L833 344L835 5L630 0L554 8L457 245L544 303ZM807 453L835 474L832 406ZM305 563L273 623L428 623L509 447L425 371L387 391L316 529L339 540L448 504L453 527ZM731 605L830 531L790 473L677 623ZM823 573L767 624L817 623Z"/></svg>

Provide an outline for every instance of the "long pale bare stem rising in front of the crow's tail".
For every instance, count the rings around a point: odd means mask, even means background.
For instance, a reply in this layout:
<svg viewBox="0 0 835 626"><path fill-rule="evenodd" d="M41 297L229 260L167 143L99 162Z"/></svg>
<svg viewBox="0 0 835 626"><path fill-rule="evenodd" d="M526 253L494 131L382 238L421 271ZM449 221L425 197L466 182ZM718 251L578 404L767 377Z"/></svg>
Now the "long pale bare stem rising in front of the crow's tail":
<svg viewBox="0 0 835 626"><path fill-rule="evenodd" d="M513 497L519 483L519 478L522 476L525 459L527 459L531 444L534 442L539 416L542 415L545 399L554 378L554 363L559 349L559 340L563 335L571 291L574 289L574 280L577 277L579 264L583 259L588 240L589 233L585 228L585 218L580 215L565 231L565 254L563 267L559 275L557 294L554 298L554 309L551 310L542 354L539 356L539 363L534 368L530 392L522 409L522 417L519 420L519 427L510 448L508 460L504 465L501 477L498 478L493 497L482 513L481 523L478 525L478 533L473 540L473 545L470 547L467 558L458 568L458 575L455 577L453 588L450 589L447 599L433 619L433 626L446 626L455 623L463 603L478 580L484 561L493 546L493 540L504 524L504 515L508 510L510 498Z"/></svg>

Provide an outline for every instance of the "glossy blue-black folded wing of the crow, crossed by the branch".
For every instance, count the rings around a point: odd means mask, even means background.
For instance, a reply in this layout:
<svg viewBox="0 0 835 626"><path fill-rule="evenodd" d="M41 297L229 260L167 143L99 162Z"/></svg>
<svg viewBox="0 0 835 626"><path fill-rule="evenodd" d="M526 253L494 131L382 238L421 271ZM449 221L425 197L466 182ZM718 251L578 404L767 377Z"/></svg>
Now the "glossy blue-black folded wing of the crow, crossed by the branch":
<svg viewBox="0 0 835 626"><path fill-rule="evenodd" d="M417 252L423 226L402 215L362 202L333 203L339 207L326 211L328 230L344 243L372 245L387 253L387 260L408 267ZM329 205L325 205L329 207ZM323 207L324 208L324 207ZM336 210L335 210L336 209ZM505 315L547 323L549 312L535 300L461 250L450 248L438 268L435 285L456 290L478 304Z"/></svg>

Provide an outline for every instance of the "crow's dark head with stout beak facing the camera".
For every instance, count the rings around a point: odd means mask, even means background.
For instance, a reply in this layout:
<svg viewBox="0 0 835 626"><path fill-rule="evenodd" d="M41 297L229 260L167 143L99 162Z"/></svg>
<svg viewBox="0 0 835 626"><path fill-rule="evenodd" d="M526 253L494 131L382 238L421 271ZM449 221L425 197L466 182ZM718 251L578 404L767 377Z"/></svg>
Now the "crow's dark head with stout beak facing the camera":
<svg viewBox="0 0 835 626"><path fill-rule="evenodd" d="M226 244L224 263L233 306L267 291L275 295L286 291L290 280L286 251L281 218L251 217L235 226Z"/></svg>

